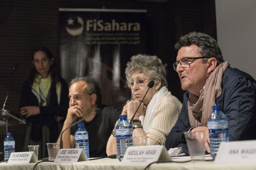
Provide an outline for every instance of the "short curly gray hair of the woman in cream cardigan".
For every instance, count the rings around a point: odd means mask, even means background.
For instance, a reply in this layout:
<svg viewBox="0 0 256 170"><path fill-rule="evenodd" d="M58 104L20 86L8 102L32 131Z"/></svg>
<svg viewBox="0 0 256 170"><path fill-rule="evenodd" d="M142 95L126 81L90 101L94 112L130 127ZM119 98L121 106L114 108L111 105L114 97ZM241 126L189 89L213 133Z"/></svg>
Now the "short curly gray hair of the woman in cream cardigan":
<svg viewBox="0 0 256 170"><path fill-rule="evenodd" d="M162 64L161 59L157 56L149 56L145 54L138 54L132 56L130 61L126 64L125 77L127 85L130 88L131 76L136 73L144 73L150 79L154 80L155 83L157 80L161 80L161 87L168 86L166 80L166 66L167 64Z"/></svg>

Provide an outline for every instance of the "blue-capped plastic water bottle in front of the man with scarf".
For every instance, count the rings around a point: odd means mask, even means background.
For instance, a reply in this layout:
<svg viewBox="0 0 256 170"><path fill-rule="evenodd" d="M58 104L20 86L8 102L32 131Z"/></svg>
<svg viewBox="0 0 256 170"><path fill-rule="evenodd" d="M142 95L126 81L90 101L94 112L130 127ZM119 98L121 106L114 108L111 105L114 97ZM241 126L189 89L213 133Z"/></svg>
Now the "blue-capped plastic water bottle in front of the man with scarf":
<svg viewBox="0 0 256 170"><path fill-rule="evenodd" d="M211 157L214 159L218 153L220 142L228 142L227 117L220 110L220 105L212 106L212 113L208 119L208 129L210 137Z"/></svg>

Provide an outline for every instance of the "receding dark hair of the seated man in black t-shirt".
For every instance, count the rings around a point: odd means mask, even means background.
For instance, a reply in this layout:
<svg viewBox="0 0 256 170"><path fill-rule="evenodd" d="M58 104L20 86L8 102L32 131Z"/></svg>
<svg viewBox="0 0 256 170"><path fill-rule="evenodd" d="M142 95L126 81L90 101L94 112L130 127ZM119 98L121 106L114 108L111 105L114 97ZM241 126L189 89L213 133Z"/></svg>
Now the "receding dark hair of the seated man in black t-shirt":
<svg viewBox="0 0 256 170"><path fill-rule="evenodd" d="M97 95L96 104L97 104L97 106L99 106L101 103L101 93L100 93L99 84L96 82L96 80L91 77L88 77L88 76L76 77L70 81L69 87L73 83L78 82L78 81L84 81L85 83L87 83L88 94L92 95L93 93L95 93Z"/></svg>

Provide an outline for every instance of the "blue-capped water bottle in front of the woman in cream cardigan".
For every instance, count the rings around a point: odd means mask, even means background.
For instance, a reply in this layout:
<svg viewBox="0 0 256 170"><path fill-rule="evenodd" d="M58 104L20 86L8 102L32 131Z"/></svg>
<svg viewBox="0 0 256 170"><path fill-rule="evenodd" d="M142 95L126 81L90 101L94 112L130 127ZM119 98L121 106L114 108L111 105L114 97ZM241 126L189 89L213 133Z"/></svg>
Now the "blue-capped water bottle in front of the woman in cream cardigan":
<svg viewBox="0 0 256 170"><path fill-rule="evenodd" d="M128 146L132 146L132 125L127 120L127 115L120 115L116 125L117 158L122 161Z"/></svg>

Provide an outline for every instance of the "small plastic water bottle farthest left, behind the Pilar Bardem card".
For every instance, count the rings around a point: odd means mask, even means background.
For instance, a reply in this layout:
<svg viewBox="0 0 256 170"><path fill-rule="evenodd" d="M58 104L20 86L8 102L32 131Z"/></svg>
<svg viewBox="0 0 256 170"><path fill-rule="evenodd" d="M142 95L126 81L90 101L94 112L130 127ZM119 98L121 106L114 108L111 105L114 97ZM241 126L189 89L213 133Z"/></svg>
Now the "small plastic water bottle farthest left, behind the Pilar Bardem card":
<svg viewBox="0 0 256 170"><path fill-rule="evenodd" d="M12 133L7 132L4 139L4 160L8 160L12 152L15 152L15 141Z"/></svg>

